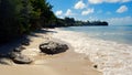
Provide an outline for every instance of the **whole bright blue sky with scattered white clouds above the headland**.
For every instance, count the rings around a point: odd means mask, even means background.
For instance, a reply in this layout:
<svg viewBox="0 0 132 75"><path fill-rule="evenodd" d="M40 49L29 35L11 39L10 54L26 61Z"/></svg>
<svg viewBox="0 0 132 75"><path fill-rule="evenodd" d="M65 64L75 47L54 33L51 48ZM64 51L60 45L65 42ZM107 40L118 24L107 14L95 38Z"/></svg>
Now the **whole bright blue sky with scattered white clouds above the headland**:
<svg viewBox="0 0 132 75"><path fill-rule="evenodd" d="M58 18L108 21L112 25L132 24L132 0L47 0Z"/></svg>

